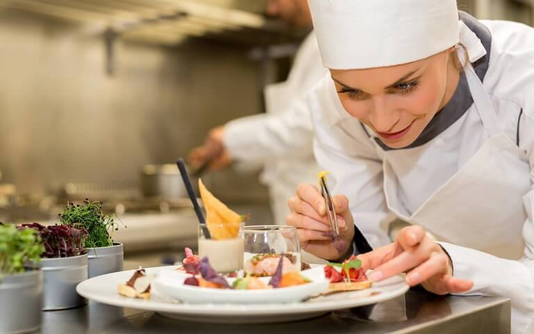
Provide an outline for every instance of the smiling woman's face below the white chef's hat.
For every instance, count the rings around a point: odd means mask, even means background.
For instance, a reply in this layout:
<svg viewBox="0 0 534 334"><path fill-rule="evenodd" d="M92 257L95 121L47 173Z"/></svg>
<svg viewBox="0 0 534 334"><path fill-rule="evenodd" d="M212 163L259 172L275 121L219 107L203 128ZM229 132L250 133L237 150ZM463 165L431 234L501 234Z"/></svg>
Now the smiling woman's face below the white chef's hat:
<svg viewBox="0 0 534 334"><path fill-rule="evenodd" d="M452 52L403 65L330 73L344 109L373 129L385 145L405 148L458 86Z"/></svg>

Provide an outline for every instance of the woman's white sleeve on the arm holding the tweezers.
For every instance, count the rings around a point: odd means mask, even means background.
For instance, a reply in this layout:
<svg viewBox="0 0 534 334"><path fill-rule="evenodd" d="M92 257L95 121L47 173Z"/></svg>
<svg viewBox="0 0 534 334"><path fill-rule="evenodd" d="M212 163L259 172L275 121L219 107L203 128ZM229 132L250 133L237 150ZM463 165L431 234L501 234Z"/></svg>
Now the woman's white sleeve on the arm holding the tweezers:
<svg viewBox="0 0 534 334"><path fill-rule="evenodd" d="M332 192L349 198L355 225L373 248L389 244L380 223L390 214L382 189L382 160L355 118L346 118L328 77L309 95L314 122L314 154L319 166L330 171ZM341 108L341 109L340 109ZM341 116L339 122L332 115ZM333 118L336 118L334 116Z"/></svg>

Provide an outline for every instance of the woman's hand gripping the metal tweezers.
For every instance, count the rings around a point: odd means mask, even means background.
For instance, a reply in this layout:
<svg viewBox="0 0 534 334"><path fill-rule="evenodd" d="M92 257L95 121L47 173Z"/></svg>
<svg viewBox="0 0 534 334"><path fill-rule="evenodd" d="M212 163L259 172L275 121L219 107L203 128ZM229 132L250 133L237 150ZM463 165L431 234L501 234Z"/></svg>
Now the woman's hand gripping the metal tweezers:
<svg viewBox="0 0 534 334"><path fill-rule="evenodd" d="M296 196L289 200L291 212L286 221L297 228L302 249L323 259L339 260L350 252L354 237L354 221L348 209L346 196L333 196L332 201L337 214L341 247L332 242L332 228L326 215L325 199L311 184L298 186Z"/></svg>

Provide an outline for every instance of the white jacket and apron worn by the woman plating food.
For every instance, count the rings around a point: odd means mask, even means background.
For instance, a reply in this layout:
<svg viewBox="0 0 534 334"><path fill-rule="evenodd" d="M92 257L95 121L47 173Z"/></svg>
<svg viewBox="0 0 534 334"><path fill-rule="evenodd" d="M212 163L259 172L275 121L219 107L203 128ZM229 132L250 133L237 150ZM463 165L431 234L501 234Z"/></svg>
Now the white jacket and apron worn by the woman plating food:
<svg viewBox="0 0 534 334"><path fill-rule="evenodd" d="M423 226L474 281L465 294L511 299L512 332L534 333L534 29L461 16L486 55L410 147L383 145L326 76L307 101L314 150L371 245L391 242L391 212Z"/></svg>

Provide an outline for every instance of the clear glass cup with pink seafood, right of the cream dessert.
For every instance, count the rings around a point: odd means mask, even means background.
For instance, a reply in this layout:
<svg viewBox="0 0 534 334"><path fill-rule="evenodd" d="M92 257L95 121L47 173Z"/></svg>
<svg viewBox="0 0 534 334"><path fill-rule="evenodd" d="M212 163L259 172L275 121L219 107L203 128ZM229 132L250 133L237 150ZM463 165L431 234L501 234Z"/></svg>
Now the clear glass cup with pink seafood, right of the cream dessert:
<svg viewBox="0 0 534 334"><path fill-rule="evenodd" d="M268 261L258 265L258 259L266 255L284 255L300 271L300 243L297 229L289 225L252 225L243 228L245 254L243 268L247 273L268 276L275 270L278 261ZM273 267L274 266L274 267ZM289 268L282 267L284 271ZM252 272L251 272L252 271Z"/></svg>

